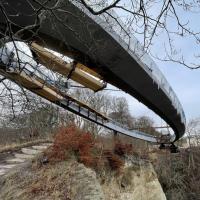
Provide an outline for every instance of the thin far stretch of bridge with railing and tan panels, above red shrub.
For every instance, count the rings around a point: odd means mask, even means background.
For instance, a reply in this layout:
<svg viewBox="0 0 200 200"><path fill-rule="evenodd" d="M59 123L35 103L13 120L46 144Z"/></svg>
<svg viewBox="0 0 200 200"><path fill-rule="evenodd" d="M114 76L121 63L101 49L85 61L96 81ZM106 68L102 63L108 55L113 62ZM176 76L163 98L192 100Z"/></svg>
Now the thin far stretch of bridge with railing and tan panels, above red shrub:
<svg viewBox="0 0 200 200"><path fill-rule="evenodd" d="M11 70L12 69L14 68L11 67ZM114 122L113 120L102 115L98 111L87 106L83 102L74 99L66 93L63 93L58 88L47 83L45 80L42 80L37 75L33 75L32 72L27 69L19 71L15 68L14 71L10 71L8 70L8 66L4 65L1 62L0 74L12 80L21 87L24 87L32 91L33 93L51 101L52 103L57 104L58 106L61 106L64 109L67 109L105 128L148 142L158 142L158 139L152 135L145 134L136 130L129 130L127 127L123 127L122 124Z"/></svg>

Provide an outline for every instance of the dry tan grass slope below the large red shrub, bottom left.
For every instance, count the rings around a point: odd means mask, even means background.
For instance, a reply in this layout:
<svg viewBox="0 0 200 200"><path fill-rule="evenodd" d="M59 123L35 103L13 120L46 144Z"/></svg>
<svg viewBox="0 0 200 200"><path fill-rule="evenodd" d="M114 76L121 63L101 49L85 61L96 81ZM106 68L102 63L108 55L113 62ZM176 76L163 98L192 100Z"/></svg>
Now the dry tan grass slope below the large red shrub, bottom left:
<svg viewBox="0 0 200 200"><path fill-rule="evenodd" d="M94 200L100 200L100 185L92 170L75 160L43 165L41 159L3 177L0 199L86 200L88 195L96 195Z"/></svg>

